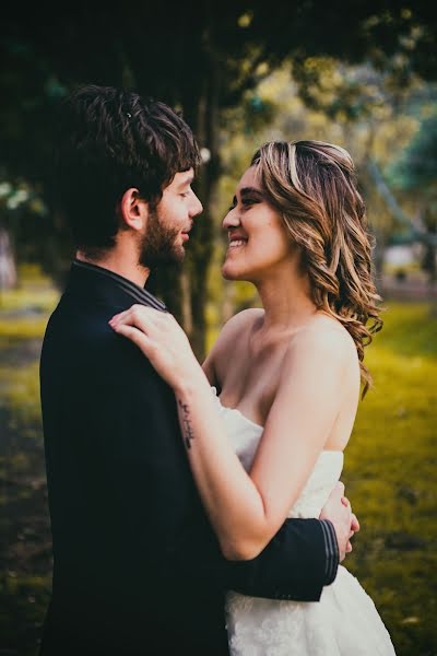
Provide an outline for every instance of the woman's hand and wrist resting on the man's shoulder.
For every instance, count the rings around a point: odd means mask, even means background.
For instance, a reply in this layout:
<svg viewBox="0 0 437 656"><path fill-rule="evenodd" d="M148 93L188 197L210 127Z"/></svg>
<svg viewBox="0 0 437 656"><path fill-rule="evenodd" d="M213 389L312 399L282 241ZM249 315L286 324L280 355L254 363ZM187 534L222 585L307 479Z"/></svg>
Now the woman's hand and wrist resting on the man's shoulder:
<svg viewBox="0 0 437 656"><path fill-rule="evenodd" d="M201 375L190 342L175 317L144 305L115 315L109 325L137 344L175 391Z"/></svg>

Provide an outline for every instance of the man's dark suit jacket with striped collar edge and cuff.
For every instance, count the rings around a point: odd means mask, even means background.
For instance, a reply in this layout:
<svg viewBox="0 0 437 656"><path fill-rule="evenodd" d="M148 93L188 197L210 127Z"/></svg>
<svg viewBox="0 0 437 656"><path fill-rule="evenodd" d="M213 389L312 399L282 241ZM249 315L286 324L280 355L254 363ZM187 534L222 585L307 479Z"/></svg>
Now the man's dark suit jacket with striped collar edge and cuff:
<svg viewBox="0 0 437 656"><path fill-rule="evenodd" d="M316 519L287 520L253 561L221 555L174 394L108 326L135 302L158 304L125 279L73 263L47 326L40 390L54 578L44 656L226 655L226 588L318 600L336 572L332 526Z"/></svg>

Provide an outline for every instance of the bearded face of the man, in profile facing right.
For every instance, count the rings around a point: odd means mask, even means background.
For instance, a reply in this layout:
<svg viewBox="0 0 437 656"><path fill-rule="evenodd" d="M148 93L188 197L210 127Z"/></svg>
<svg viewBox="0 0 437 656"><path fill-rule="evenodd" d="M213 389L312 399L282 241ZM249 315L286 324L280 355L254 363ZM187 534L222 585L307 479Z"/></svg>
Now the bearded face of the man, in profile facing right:
<svg viewBox="0 0 437 656"><path fill-rule="evenodd" d="M140 244L139 263L154 268L165 262L181 262L192 220L203 210L191 189L193 171L177 173L164 189L155 210L149 212L147 226Z"/></svg>

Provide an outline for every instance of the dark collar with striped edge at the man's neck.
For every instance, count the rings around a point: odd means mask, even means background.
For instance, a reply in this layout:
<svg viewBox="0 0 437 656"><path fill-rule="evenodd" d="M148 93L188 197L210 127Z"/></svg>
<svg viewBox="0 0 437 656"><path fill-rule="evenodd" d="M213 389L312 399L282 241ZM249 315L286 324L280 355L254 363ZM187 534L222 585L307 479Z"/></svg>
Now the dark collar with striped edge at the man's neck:
<svg viewBox="0 0 437 656"><path fill-rule="evenodd" d="M162 301L134 282L109 269L78 259L71 265L66 292L79 292L81 295L94 296L111 305L129 306L132 303L140 303L162 312L167 311Z"/></svg>

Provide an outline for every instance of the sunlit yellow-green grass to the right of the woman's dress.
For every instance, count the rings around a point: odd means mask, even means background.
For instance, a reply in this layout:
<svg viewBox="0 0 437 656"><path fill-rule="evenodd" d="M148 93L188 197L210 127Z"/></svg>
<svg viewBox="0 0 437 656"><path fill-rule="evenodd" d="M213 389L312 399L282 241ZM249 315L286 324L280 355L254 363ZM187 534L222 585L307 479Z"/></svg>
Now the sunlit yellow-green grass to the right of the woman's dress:
<svg viewBox="0 0 437 656"><path fill-rule="evenodd" d="M343 481L362 530L347 567L373 597L398 655L437 649L437 317L388 304L366 355L375 387L362 402Z"/></svg>

